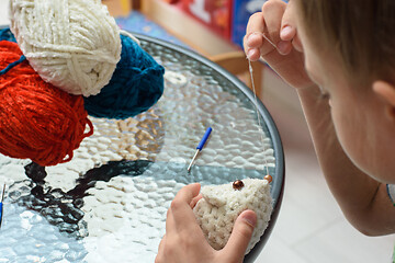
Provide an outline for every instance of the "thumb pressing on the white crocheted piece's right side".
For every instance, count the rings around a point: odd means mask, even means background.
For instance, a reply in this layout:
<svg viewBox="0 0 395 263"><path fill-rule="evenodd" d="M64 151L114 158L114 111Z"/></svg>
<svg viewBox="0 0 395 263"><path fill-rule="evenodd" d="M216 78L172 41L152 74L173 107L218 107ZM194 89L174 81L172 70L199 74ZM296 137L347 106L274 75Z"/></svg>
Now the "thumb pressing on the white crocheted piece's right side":
<svg viewBox="0 0 395 263"><path fill-rule="evenodd" d="M253 210L245 210L237 217L230 238L223 249L229 259L242 261L256 224L257 215Z"/></svg>

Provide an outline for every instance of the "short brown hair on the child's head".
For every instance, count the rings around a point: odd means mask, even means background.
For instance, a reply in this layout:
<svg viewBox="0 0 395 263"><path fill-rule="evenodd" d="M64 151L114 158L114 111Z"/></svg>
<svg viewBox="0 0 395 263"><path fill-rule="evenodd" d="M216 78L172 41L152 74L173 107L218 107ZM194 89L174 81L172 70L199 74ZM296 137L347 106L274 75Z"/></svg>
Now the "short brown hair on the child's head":
<svg viewBox="0 0 395 263"><path fill-rule="evenodd" d="M296 0L307 36L352 82L395 84L395 0Z"/></svg>

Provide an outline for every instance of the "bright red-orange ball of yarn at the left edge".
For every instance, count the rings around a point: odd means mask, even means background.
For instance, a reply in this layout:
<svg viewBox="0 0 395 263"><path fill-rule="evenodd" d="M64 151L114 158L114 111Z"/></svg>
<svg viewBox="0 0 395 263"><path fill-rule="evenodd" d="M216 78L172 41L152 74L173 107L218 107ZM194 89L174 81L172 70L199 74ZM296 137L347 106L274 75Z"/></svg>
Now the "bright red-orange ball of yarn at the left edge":
<svg viewBox="0 0 395 263"><path fill-rule="evenodd" d="M93 133L83 99L43 81L21 55L16 43L0 42L0 152L40 165L67 162Z"/></svg>

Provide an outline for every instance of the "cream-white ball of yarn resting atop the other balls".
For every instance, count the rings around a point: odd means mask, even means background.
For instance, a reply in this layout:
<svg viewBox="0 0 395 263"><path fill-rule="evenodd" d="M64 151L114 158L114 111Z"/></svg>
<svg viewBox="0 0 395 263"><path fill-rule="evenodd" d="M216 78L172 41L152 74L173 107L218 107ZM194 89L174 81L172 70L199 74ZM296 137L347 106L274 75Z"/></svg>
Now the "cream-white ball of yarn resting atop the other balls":
<svg viewBox="0 0 395 263"><path fill-rule="evenodd" d="M84 96L109 83L120 60L120 28L100 0L11 0L10 20L45 81Z"/></svg>

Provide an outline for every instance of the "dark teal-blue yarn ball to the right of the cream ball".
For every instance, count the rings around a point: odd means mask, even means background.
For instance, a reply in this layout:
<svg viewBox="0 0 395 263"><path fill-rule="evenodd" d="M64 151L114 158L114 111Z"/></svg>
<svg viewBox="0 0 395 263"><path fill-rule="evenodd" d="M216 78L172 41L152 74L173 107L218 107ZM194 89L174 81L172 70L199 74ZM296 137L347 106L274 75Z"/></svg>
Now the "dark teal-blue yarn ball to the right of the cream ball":
<svg viewBox="0 0 395 263"><path fill-rule="evenodd" d="M83 98L91 116L132 117L151 107L163 93L163 67L131 37L121 35L121 60L110 83L98 95Z"/></svg>

